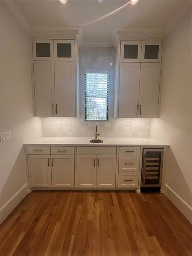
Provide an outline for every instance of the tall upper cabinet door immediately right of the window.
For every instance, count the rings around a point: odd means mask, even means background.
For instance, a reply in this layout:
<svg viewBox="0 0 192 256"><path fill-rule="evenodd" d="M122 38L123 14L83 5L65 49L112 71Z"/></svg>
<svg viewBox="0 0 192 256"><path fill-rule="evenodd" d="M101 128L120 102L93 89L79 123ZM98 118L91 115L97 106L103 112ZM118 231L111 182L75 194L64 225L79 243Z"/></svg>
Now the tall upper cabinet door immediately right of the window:
<svg viewBox="0 0 192 256"><path fill-rule="evenodd" d="M140 63L121 63L119 117L137 117L140 88Z"/></svg>

